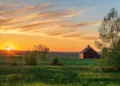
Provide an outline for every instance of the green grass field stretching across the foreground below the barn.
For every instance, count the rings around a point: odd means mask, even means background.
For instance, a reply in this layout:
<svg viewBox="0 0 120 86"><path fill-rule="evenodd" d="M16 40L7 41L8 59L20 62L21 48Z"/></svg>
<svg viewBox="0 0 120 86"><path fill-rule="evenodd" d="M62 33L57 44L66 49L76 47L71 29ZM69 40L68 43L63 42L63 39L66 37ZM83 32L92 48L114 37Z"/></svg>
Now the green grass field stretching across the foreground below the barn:
<svg viewBox="0 0 120 86"><path fill-rule="evenodd" d="M0 86L120 86L120 72L103 72L99 60L61 58L63 66L50 61L40 59L37 66L1 63Z"/></svg>

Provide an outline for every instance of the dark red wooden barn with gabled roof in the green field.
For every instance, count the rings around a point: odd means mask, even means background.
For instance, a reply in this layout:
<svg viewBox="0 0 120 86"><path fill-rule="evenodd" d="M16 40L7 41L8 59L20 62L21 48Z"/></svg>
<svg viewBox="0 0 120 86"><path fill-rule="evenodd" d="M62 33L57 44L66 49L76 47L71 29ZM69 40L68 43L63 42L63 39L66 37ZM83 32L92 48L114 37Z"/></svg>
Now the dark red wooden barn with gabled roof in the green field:
<svg viewBox="0 0 120 86"><path fill-rule="evenodd" d="M82 50L80 52L79 57L81 59L94 59L94 58L99 58L98 53L92 49L89 45L87 48L85 48L84 50Z"/></svg>

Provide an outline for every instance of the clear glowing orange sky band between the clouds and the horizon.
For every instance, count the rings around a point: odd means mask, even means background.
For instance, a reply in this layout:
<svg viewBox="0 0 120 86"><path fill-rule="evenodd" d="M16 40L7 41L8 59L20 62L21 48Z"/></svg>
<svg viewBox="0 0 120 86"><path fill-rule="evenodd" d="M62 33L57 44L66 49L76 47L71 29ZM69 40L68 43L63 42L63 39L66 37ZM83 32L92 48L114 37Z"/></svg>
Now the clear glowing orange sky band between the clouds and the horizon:
<svg viewBox="0 0 120 86"><path fill-rule="evenodd" d="M0 41L0 49L4 49L5 46L13 46L17 50L31 50L37 44L45 44L50 48L50 51L61 52L80 52L88 44L96 49L93 40L2 34Z"/></svg>

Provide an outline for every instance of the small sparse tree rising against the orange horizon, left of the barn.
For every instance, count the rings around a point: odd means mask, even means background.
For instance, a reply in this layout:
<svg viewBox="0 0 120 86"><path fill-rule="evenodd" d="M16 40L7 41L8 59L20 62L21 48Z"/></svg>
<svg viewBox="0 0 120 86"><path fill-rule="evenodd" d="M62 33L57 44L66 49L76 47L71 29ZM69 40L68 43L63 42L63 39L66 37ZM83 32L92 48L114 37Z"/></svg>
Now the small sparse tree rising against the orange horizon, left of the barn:
<svg viewBox="0 0 120 86"><path fill-rule="evenodd" d="M49 48L43 44L35 46L35 51L40 55L40 57L45 58L49 52Z"/></svg>

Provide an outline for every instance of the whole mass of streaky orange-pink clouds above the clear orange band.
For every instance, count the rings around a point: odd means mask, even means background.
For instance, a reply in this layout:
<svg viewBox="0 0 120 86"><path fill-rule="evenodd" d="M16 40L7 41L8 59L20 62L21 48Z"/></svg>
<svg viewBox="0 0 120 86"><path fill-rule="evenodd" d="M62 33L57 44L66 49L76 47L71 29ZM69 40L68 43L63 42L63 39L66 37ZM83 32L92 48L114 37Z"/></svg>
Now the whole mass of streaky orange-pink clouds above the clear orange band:
<svg viewBox="0 0 120 86"><path fill-rule="evenodd" d="M77 10L53 9L55 4L25 5L19 3L0 3L0 33L60 36L79 38L78 29L83 26L97 26L100 22L74 22L71 18L86 12ZM92 39L93 37L83 37Z"/></svg>

